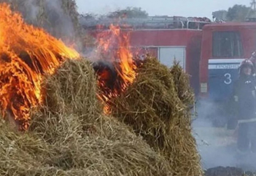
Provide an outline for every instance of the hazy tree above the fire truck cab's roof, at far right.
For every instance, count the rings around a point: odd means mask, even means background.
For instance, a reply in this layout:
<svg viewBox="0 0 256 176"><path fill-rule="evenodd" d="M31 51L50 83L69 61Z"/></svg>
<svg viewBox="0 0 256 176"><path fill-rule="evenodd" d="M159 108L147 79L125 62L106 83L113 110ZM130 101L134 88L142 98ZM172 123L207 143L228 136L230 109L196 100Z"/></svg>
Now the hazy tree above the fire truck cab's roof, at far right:
<svg viewBox="0 0 256 176"><path fill-rule="evenodd" d="M234 5L232 8L228 8L227 12L227 20L228 21L236 21L243 22L250 12L251 8L245 5ZM251 11L252 12L252 11ZM251 15L251 14L249 14Z"/></svg>

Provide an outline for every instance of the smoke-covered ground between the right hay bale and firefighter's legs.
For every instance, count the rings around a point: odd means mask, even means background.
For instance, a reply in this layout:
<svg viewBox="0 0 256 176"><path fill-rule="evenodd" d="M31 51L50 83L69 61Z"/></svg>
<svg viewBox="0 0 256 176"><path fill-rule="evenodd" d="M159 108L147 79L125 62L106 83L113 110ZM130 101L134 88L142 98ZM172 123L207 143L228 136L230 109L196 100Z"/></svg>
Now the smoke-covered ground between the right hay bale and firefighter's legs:
<svg viewBox="0 0 256 176"><path fill-rule="evenodd" d="M210 121L196 119L193 121L193 133L205 170L220 166L256 170L256 154L237 151L237 130L213 127Z"/></svg>

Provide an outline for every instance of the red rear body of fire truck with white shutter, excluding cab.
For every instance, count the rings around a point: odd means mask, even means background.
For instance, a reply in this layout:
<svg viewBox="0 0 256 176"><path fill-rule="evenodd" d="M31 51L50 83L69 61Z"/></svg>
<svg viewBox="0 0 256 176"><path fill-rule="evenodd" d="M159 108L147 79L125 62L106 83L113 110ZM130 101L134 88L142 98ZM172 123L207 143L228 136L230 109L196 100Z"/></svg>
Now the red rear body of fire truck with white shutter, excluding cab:
<svg viewBox="0 0 256 176"><path fill-rule="evenodd" d="M202 28L209 22L174 16L173 19L153 19L151 23L159 27L151 24L133 29L131 45L147 50L167 66L171 66L175 58L190 75L190 84L198 94Z"/></svg>

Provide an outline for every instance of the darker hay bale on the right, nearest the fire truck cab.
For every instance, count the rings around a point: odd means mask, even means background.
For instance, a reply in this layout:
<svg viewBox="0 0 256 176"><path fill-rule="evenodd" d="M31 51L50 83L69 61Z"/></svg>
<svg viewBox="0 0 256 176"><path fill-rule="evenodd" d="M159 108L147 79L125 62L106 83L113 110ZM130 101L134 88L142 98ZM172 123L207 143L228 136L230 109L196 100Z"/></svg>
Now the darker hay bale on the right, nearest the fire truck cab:
<svg viewBox="0 0 256 176"><path fill-rule="evenodd" d="M170 162L174 175L202 175L188 105L193 94L178 65L171 70L148 57L133 84L112 102L113 116Z"/></svg>

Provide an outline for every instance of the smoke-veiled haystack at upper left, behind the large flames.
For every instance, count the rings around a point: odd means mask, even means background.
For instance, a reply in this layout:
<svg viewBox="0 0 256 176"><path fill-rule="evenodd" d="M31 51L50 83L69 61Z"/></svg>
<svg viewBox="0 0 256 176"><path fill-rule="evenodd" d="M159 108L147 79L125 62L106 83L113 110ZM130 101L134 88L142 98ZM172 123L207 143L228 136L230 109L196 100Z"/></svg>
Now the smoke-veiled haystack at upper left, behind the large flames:
<svg viewBox="0 0 256 176"><path fill-rule="evenodd" d="M67 45L82 48L78 15L73 1L62 0L6 0L22 13L26 22L41 27ZM72 9L69 9L69 8Z"/></svg>

